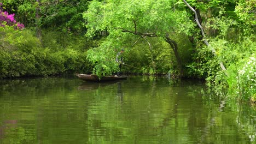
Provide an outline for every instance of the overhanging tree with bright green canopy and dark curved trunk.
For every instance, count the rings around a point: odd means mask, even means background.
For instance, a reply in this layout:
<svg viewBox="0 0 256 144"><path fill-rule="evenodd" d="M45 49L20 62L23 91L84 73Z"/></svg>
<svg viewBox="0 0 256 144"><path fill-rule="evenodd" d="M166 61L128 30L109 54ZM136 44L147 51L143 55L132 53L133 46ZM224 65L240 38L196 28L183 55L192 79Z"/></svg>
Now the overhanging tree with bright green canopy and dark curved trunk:
<svg viewBox="0 0 256 144"><path fill-rule="evenodd" d="M178 44L171 36L177 33L189 33L193 24L189 21L182 5L175 2L167 0L92 1L88 11L84 13L87 21L86 28L88 28L87 36L93 38L97 33L107 31L108 40L112 39L110 41L120 46L122 45L120 39L125 39L127 34L136 35L137 38L142 37L145 40L147 40L146 37L160 37L170 44L183 76ZM100 59L97 63L99 61Z"/></svg>

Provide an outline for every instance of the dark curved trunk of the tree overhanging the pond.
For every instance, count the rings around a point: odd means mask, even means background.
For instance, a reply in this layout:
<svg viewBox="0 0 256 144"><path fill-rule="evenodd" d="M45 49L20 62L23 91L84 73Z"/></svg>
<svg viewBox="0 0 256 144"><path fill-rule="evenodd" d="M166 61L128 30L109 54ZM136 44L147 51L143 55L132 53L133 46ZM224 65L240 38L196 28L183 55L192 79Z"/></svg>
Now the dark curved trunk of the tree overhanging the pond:
<svg viewBox="0 0 256 144"><path fill-rule="evenodd" d="M172 50L173 50L174 55L176 57L177 65L178 65L178 68L179 68L180 77L183 77L184 76L184 71L183 71L183 67L182 67L181 57L179 57L179 53L178 53L178 44L176 43L176 41L170 39L168 34L165 35L165 41L168 44L170 44L170 46L172 47Z"/></svg>

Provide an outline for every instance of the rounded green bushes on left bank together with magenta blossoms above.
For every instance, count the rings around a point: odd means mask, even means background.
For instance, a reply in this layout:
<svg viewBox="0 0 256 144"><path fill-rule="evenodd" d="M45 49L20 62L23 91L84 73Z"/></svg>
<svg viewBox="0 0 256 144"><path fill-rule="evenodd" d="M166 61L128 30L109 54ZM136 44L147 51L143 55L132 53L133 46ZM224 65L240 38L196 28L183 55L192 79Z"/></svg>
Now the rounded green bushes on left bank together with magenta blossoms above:
<svg viewBox="0 0 256 144"><path fill-rule="evenodd" d="M86 49L89 45L83 37L71 37L63 32L42 29L42 37L38 39L30 25L24 29L24 25L16 22L14 14L5 11L8 8L4 5L2 7L0 77L91 71L90 64L86 61Z"/></svg>

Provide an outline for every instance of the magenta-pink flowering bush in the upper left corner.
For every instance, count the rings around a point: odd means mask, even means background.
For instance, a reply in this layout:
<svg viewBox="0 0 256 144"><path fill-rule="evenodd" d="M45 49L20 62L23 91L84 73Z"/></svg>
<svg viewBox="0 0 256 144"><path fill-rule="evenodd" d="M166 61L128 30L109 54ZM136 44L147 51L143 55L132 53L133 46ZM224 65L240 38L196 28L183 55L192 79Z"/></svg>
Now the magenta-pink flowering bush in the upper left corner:
<svg viewBox="0 0 256 144"><path fill-rule="evenodd" d="M0 3L0 26L14 26L15 29L23 29L24 25L20 22L16 22L15 14L9 14L7 11L3 11L2 3Z"/></svg>

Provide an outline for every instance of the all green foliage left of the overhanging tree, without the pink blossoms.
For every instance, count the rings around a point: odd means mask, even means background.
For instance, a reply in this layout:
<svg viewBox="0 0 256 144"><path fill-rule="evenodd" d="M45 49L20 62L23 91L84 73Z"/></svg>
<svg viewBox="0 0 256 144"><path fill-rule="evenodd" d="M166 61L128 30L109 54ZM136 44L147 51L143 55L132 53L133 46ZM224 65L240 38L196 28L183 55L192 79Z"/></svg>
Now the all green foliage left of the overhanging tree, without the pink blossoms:
<svg viewBox="0 0 256 144"><path fill-rule="evenodd" d="M87 9L87 1L1 3L3 10L15 13L15 19L24 22L26 29L0 29L0 77L90 73L86 50L94 43L82 37L86 31L82 12ZM35 20L36 9L40 19ZM42 29L40 39L34 37L35 24Z"/></svg>

